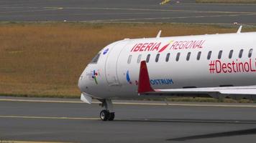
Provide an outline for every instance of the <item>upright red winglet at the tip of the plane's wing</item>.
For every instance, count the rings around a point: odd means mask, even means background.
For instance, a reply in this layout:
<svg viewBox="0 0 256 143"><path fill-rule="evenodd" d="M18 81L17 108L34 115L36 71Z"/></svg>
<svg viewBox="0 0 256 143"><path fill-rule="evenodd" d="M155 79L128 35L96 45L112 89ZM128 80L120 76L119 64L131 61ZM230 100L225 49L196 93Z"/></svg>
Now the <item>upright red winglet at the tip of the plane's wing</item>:
<svg viewBox="0 0 256 143"><path fill-rule="evenodd" d="M140 62L140 77L138 84L138 93L155 92L150 85L150 77L147 71L146 61Z"/></svg>

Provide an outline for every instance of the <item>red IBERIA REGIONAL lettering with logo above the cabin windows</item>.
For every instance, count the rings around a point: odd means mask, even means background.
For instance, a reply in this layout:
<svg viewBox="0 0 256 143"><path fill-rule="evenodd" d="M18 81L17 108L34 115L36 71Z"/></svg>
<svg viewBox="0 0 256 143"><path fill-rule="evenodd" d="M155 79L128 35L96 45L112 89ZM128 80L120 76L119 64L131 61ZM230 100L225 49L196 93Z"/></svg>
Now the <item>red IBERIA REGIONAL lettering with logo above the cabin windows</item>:
<svg viewBox="0 0 256 143"><path fill-rule="evenodd" d="M162 44L162 42L149 42L149 43L137 43L132 47L131 52L140 51L157 51L158 53L165 51L170 47L170 50L178 49L202 49L204 48L204 42L206 40L191 40L191 41L174 41L171 40L168 44Z"/></svg>

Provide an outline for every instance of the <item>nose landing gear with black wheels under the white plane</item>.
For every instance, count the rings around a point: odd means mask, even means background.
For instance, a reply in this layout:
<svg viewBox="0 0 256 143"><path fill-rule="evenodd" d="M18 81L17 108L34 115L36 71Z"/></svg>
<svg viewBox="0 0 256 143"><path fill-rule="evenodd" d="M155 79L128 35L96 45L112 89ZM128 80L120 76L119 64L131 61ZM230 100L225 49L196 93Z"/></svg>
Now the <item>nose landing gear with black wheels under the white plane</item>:
<svg viewBox="0 0 256 143"><path fill-rule="evenodd" d="M101 111L99 114L99 117L102 121L113 121L114 120L114 112L113 112L113 104L111 102L111 99L104 99L101 100L102 104L101 107L104 107L105 109Z"/></svg>

